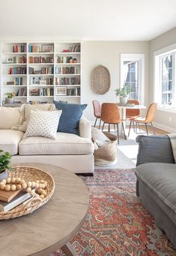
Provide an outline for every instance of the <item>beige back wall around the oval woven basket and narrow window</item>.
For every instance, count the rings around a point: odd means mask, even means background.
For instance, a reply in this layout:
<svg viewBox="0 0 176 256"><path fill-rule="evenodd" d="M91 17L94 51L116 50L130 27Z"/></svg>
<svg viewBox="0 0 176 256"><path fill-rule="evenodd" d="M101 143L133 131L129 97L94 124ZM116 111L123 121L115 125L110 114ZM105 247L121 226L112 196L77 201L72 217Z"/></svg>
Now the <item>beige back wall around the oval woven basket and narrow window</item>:
<svg viewBox="0 0 176 256"><path fill-rule="evenodd" d="M92 100L117 102L115 88L120 85L121 53L145 53L145 104L148 105L148 41L83 41L82 43L82 103L88 107L85 117L94 120ZM97 65L106 66L111 75L111 87L104 95L91 90L91 71Z"/></svg>

